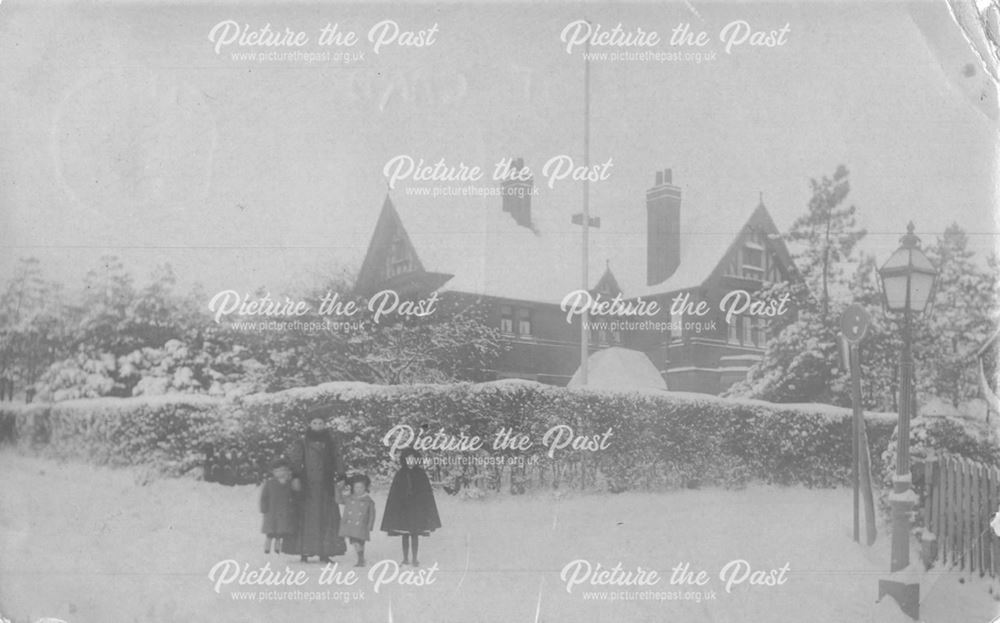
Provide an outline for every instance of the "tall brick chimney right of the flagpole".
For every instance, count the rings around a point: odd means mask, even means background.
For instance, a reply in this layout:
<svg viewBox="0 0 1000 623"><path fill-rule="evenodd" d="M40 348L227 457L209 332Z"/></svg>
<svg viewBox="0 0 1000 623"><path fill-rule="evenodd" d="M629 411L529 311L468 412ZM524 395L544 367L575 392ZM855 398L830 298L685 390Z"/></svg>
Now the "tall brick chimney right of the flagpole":
<svg viewBox="0 0 1000 623"><path fill-rule="evenodd" d="M656 172L646 191L646 285L663 283L681 263L681 189L673 172Z"/></svg>

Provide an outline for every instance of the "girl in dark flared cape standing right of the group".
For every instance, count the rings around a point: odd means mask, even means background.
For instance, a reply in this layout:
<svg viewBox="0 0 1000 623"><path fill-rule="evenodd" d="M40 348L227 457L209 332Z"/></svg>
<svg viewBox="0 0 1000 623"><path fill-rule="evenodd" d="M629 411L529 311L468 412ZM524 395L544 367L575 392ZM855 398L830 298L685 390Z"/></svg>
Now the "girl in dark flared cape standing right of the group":
<svg viewBox="0 0 1000 623"><path fill-rule="evenodd" d="M419 460L420 453L413 448L399 453L399 471L392 479L382 514L382 531L403 537L403 564L411 564L412 560L414 567L420 565L417 560L420 537L441 527L431 481L418 465Z"/></svg>

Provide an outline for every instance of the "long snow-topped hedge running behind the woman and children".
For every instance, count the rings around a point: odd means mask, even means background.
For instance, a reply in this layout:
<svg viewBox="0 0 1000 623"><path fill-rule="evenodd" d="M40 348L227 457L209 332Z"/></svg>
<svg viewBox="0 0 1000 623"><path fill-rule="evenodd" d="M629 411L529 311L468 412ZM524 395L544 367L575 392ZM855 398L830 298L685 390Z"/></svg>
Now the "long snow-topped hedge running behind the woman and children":
<svg viewBox="0 0 1000 623"><path fill-rule="evenodd" d="M382 438L396 425L433 435L479 436L478 452L426 452L463 457L432 477L480 487L509 479L534 487L624 490L739 486L758 481L806 486L847 482L850 411L824 405L777 405L677 392L566 389L523 381L374 386L328 383L235 400L198 396L97 399L54 405L0 405L0 421L16 422L22 443L100 463L153 463L171 474L209 459L213 477L251 482L305 429L314 408L330 414L347 465L373 476L392 468ZM885 450L892 414L868 414L873 457ZM546 432L603 435L597 452L564 448L549 455ZM526 450L492 449L502 428L526 435ZM473 455L479 459L469 461ZM508 457L502 469L499 456ZM469 463L473 463L470 465Z"/></svg>

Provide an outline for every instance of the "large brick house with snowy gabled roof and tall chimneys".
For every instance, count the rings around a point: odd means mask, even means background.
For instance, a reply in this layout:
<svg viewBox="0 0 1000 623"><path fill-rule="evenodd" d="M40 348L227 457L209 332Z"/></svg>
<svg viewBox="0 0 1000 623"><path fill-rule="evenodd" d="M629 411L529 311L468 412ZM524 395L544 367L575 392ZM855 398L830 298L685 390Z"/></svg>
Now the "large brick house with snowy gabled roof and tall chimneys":
<svg viewBox="0 0 1000 623"><path fill-rule="evenodd" d="M764 319L727 323L719 301L735 289L797 279L794 264L761 201L755 208L681 209L670 169L646 191L645 223L611 222L590 230L588 290L605 299L657 301L643 324L592 318L591 352L610 346L645 353L671 390L718 394L742 379L768 340ZM582 289L581 231L565 213L536 209L532 182L503 183L501 197L394 203L388 196L357 278L361 293L468 297L485 305L509 350L481 378L524 378L566 385L580 363L580 317L567 321L563 298ZM711 312L670 315L687 294ZM614 320L613 318L610 320ZM656 324L653 324L655 321ZM669 327L669 329L667 329Z"/></svg>

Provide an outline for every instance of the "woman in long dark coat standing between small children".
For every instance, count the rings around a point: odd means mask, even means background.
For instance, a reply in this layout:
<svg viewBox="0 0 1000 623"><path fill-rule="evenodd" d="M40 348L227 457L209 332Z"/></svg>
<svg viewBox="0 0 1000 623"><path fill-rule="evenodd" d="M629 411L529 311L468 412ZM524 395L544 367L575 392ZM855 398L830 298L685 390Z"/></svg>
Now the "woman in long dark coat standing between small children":
<svg viewBox="0 0 1000 623"><path fill-rule="evenodd" d="M340 531L340 506L337 487L343 486L344 458L337 438L326 428L323 414L310 412L305 436L292 444L288 451L289 464L299 483L301 508L298 534L290 554L299 554L305 562L319 556L329 562L330 556L347 552Z"/></svg>

